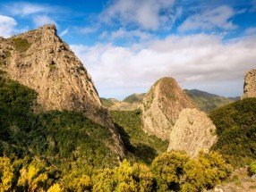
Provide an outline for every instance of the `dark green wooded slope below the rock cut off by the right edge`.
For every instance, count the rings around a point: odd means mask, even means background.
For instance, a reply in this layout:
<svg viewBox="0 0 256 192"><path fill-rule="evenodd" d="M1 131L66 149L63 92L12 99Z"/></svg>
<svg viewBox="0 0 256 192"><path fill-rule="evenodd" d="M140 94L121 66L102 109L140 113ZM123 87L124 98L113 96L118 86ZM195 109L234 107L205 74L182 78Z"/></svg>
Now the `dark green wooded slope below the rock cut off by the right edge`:
<svg viewBox="0 0 256 192"><path fill-rule="evenodd" d="M209 114L217 127L218 142L212 146L235 167L256 159L256 98L223 106Z"/></svg>

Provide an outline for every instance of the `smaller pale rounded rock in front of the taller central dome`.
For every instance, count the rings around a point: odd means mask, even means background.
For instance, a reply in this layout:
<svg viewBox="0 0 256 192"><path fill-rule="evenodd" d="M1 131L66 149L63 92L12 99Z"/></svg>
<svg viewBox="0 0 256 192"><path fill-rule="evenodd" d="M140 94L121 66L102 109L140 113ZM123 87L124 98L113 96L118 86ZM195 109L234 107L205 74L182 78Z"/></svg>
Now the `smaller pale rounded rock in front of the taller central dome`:
<svg viewBox="0 0 256 192"><path fill-rule="evenodd" d="M170 134L168 151L182 150L193 157L200 150L209 151L216 143L215 125L206 115L197 109L183 109Z"/></svg>

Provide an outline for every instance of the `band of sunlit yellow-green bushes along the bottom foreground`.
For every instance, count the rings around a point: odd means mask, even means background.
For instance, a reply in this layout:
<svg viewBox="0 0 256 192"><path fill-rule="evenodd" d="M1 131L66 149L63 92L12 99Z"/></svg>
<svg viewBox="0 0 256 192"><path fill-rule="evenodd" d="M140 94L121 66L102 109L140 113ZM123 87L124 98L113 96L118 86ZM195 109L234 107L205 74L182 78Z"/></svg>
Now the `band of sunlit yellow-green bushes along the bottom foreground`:
<svg viewBox="0 0 256 192"><path fill-rule="evenodd" d="M100 169L91 176L66 172L39 159L0 157L1 191L201 191L226 179L231 167L217 153L197 159L182 152L161 154L150 166L129 163ZM85 171L85 170L81 170Z"/></svg>

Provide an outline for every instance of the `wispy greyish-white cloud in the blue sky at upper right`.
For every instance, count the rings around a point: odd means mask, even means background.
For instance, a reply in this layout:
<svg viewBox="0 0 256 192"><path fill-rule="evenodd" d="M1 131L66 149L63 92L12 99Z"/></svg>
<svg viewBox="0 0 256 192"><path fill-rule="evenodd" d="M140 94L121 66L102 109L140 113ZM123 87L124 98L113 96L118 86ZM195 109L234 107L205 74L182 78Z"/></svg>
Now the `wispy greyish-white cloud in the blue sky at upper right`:
<svg viewBox="0 0 256 192"><path fill-rule="evenodd" d="M235 29L235 24L230 19L235 15L235 11L226 5L219 6L212 10L205 10L189 16L182 25L180 31L187 30L210 30L210 29Z"/></svg>

